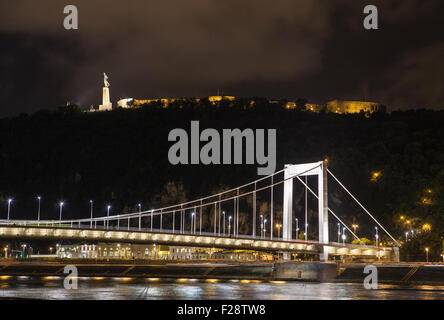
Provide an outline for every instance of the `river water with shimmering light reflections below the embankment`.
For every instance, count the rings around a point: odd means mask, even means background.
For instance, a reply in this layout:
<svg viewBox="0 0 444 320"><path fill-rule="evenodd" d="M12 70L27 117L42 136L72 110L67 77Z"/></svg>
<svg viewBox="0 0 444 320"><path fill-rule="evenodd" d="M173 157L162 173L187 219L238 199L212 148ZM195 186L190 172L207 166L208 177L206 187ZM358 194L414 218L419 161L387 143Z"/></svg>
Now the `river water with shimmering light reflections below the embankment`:
<svg viewBox="0 0 444 320"><path fill-rule="evenodd" d="M379 285L366 290L358 283L302 283L197 279L81 278L77 290L65 290L63 280L14 278L0 280L0 298L147 300L343 300L443 299L444 286Z"/></svg>

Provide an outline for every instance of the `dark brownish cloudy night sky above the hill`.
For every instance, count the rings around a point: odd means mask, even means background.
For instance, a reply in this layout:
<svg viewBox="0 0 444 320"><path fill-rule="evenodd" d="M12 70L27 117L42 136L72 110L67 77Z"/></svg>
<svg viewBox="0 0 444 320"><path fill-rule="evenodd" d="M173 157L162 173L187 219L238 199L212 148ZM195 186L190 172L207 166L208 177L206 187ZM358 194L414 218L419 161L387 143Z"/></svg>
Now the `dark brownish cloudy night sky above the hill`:
<svg viewBox="0 0 444 320"><path fill-rule="evenodd" d="M66 2L66 3L65 3ZM63 28L63 8L79 29ZM380 29L363 28L379 9ZM0 116L118 98L235 96L444 108L442 0L0 3Z"/></svg>

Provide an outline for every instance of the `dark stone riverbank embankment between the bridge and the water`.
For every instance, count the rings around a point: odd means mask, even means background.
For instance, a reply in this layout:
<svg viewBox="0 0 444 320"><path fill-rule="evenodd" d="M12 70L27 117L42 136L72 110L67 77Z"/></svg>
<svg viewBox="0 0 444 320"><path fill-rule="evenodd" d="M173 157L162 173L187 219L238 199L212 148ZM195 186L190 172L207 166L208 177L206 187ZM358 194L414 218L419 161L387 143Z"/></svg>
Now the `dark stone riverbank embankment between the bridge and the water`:
<svg viewBox="0 0 444 320"><path fill-rule="evenodd" d="M74 265L79 277L285 280L362 283L366 264L320 262L202 262L50 260L0 261L0 280L8 277L64 277L64 268ZM424 263L373 264L378 283L444 285L444 265Z"/></svg>

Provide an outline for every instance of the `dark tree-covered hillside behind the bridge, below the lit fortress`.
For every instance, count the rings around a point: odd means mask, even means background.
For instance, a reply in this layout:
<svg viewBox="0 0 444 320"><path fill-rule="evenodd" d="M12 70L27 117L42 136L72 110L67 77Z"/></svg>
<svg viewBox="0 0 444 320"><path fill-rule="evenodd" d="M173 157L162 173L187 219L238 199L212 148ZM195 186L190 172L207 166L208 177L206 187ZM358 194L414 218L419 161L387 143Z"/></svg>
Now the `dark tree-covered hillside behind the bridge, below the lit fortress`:
<svg viewBox="0 0 444 320"><path fill-rule="evenodd" d="M66 218L88 217L90 199L97 215L106 214L108 203L117 214L137 210L139 202L147 209L174 201L171 197L193 199L253 180L256 165L170 165L169 131L188 131L190 121L199 120L202 129L277 129L277 170L286 163L327 157L332 171L390 232L403 241L409 232L405 257L424 260L428 246L430 257L439 258L444 233L443 111L317 114L286 110L285 101L249 101L185 101L168 108L152 103L95 113L72 106L1 119L0 216L6 217L10 197L13 218L34 218L37 195L42 196L42 219L58 218L57 203L62 200ZM169 182L174 187L168 187ZM374 239L374 224L362 210L333 182L329 188L330 206L347 223L359 224L358 234ZM170 189L176 195L171 196ZM303 193L295 194L299 212ZM266 198L262 200L266 212ZM316 226L315 202L310 204L308 222ZM423 228L426 224L431 230ZM311 229L314 236L315 227Z"/></svg>

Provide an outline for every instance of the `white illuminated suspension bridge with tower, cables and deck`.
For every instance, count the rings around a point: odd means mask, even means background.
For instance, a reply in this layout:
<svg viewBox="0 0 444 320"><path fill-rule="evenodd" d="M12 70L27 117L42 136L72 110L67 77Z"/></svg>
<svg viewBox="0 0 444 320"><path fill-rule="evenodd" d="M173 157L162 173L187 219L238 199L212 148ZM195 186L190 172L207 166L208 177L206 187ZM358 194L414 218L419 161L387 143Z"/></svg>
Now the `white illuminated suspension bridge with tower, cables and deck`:
<svg viewBox="0 0 444 320"><path fill-rule="evenodd" d="M307 177L317 177L316 188L310 187ZM328 177L331 177L359 205L370 219L391 239L393 246L366 245L328 206ZM298 238L298 220L293 215L293 184L305 189L305 238ZM282 218L276 219L275 189L283 185ZM317 191L317 192L316 192ZM269 212L259 213L258 194L268 194ZM318 239L308 240L307 196L317 200ZM245 212L242 201L249 198L251 205ZM265 219L267 218L267 219ZM330 241L329 218L342 226L343 241ZM268 220L269 219L269 220ZM268 230L266 225L269 222ZM296 228L295 227L296 224ZM278 234L274 232L278 227ZM282 228L282 234L280 229ZM345 243L345 230L359 244ZM259 232L258 232L259 231ZM399 261L398 242L358 199L327 168L325 161L286 165L284 169L247 184L193 201L159 209L128 214L91 216L82 219L63 219L62 206L58 220L0 220L0 237L17 239L49 239L156 243L174 246L215 247L239 250L281 252L285 260L292 253L319 255L320 261L332 256L350 256L382 261ZM378 234L376 235L378 238Z"/></svg>

